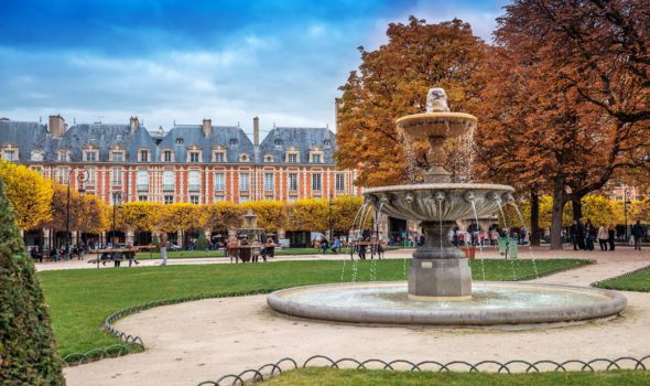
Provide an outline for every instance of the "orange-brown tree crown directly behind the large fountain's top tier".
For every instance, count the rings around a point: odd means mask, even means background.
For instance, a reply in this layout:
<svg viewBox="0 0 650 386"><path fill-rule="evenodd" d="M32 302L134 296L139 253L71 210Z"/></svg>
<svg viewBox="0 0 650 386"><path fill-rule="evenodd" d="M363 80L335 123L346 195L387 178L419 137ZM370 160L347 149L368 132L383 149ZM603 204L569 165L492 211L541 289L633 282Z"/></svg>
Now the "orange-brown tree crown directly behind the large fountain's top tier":
<svg viewBox="0 0 650 386"><path fill-rule="evenodd" d="M416 180L427 169L426 146L407 151L396 120L423 112L429 88L444 87L449 107L464 111L473 109L480 87L475 73L484 43L469 24L411 17L408 24L389 24L387 35L379 50L359 47L362 63L340 87L335 157L340 168L358 168L357 183L365 186Z"/></svg>

